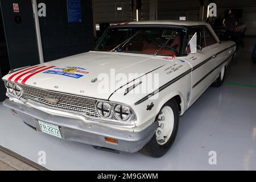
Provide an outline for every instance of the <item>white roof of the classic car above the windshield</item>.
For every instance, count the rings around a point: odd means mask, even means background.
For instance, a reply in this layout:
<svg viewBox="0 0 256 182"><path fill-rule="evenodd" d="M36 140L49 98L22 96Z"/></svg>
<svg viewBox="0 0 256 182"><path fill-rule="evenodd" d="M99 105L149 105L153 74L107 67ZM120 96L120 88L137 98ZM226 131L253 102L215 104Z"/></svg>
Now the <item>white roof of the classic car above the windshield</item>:
<svg viewBox="0 0 256 182"><path fill-rule="evenodd" d="M148 20L148 21L139 21L139 22L125 22L118 23L115 25L129 25L129 24L170 24L170 25L179 25L179 26L200 26L207 25L208 23L200 21L191 21L191 20Z"/></svg>

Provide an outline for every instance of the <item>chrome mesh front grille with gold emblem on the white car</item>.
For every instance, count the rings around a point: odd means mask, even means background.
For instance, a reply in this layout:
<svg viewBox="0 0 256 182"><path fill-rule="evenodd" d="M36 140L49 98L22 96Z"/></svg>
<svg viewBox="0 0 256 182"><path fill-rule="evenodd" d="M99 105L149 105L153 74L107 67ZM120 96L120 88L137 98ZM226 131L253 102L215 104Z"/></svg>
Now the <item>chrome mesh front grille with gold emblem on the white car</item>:
<svg viewBox="0 0 256 182"><path fill-rule="evenodd" d="M88 117L100 118L100 115L98 115L95 109L95 104L97 102L96 99L73 96L70 94L64 94L59 92L52 92L49 90L43 90L43 89L34 88L26 85L20 85L20 86L24 90L22 98L25 100L32 100L42 105L55 107L56 109L59 108L67 111L75 111L75 112L83 113ZM45 97L55 98L59 100L59 102L57 102L57 104L53 104L52 102L46 101ZM111 106L114 106L114 104L111 102L108 102L108 104L110 104ZM114 114L110 119L117 120ZM136 117L134 115L134 118L131 119L131 121L135 121L135 120L136 120Z"/></svg>

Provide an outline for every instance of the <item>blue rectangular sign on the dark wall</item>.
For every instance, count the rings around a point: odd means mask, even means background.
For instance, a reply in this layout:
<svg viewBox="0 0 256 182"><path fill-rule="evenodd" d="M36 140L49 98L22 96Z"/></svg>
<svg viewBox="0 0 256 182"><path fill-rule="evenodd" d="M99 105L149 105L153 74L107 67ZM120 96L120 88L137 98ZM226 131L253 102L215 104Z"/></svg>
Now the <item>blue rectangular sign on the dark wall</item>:
<svg viewBox="0 0 256 182"><path fill-rule="evenodd" d="M68 23L82 22L81 0L67 0Z"/></svg>

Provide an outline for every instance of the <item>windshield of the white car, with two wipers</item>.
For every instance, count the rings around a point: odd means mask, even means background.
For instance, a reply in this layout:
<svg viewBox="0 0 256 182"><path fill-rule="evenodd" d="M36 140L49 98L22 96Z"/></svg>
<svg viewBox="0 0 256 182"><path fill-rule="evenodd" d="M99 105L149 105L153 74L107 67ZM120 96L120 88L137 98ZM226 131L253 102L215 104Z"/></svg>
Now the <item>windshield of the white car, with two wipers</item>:
<svg viewBox="0 0 256 182"><path fill-rule="evenodd" d="M166 27L113 27L100 38L95 51L181 54L185 31Z"/></svg>

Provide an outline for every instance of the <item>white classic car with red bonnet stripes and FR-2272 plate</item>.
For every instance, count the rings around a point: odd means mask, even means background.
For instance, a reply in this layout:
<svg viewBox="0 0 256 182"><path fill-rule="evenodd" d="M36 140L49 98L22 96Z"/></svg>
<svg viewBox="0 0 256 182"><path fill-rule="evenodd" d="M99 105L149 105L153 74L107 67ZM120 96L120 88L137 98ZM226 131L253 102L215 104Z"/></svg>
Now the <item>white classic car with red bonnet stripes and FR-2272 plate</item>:
<svg viewBox="0 0 256 182"><path fill-rule="evenodd" d="M235 53L236 44L220 42L207 23L119 23L94 51L10 71L4 105L37 131L160 157L174 143L179 116L222 84Z"/></svg>

